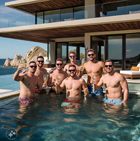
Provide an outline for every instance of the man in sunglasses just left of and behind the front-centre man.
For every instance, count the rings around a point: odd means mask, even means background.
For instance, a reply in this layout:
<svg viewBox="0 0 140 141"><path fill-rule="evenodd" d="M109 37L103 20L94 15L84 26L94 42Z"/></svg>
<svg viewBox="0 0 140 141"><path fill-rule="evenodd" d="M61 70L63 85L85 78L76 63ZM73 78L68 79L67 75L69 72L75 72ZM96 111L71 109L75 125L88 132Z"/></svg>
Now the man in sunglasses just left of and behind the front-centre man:
<svg viewBox="0 0 140 141"><path fill-rule="evenodd" d="M49 80L48 80L48 86L51 87L50 92L49 93L55 93L55 85L54 83L57 81L59 81L59 85L62 83L62 81L68 77L68 74L63 71L63 60L61 58L58 58L56 60L56 70L53 71L53 73L50 74L49 76Z"/></svg>

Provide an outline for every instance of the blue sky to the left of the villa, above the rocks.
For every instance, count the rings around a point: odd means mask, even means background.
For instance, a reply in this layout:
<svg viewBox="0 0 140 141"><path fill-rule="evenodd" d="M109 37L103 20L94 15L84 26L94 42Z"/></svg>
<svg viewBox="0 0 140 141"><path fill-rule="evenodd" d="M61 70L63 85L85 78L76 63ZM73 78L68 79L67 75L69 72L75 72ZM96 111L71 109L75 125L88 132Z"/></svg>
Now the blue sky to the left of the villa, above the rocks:
<svg viewBox="0 0 140 141"><path fill-rule="evenodd" d="M12 0L0 0L0 28L34 24L34 16L5 7L9 1ZM34 46L47 50L47 44L0 37L0 59L13 59L16 54L24 56Z"/></svg>

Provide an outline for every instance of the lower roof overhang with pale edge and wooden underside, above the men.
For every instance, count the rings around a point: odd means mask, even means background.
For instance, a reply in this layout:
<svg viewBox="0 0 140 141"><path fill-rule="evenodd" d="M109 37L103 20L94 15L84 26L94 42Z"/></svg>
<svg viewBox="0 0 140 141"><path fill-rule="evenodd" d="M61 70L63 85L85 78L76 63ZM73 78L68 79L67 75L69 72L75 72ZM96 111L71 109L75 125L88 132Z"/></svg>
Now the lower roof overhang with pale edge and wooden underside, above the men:
<svg viewBox="0 0 140 141"><path fill-rule="evenodd" d="M85 33L139 31L140 14L91 18L2 28L0 37L47 43L55 38L84 37Z"/></svg>

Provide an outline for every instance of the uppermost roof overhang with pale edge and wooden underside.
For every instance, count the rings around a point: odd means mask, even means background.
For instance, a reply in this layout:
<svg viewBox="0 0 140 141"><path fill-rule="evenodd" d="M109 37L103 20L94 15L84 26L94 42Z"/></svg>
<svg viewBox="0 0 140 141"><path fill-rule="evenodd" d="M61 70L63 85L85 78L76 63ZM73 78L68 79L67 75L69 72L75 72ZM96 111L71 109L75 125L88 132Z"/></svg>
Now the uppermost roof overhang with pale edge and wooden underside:
<svg viewBox="0 0 140 141"><path fill-rule="evenodd" d="M11 7L29 14L83 5L84 0L17 0L5 3L5 6L7 7Z"/></svg>

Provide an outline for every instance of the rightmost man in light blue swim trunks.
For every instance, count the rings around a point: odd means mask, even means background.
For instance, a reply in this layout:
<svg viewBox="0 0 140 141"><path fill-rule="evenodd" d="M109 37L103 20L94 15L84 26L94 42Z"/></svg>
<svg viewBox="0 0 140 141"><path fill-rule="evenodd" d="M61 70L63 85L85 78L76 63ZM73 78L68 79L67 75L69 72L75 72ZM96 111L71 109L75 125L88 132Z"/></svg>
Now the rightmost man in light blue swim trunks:
<svg viewBox="0 0 140 141"><path fill-rule="evenodd" d="M106 97L103 101L110 104L123 104L126 106L129 93L126 79L120 73L114 71L114 64L111 60L105 61L105 70L107 74L102 76L99 83L95 85L95 89L100 89L104 84ZM123 95L122 90L124 91Z"/></svg>

